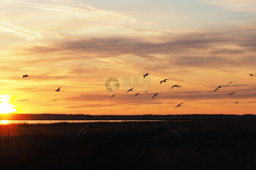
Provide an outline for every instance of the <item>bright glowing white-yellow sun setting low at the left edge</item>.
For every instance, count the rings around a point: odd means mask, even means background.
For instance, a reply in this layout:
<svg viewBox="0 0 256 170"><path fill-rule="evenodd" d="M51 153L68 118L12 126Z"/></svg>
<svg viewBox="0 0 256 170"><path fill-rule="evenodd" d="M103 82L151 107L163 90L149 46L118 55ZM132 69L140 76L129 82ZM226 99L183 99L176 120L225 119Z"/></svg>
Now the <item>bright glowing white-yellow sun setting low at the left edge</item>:
<svg viewBox="0 0 256 170"><path fill-rule="evenodd" d="M15 105L10 103L10 95L0 95L0 113L14 113L17 112Z"/></svg>

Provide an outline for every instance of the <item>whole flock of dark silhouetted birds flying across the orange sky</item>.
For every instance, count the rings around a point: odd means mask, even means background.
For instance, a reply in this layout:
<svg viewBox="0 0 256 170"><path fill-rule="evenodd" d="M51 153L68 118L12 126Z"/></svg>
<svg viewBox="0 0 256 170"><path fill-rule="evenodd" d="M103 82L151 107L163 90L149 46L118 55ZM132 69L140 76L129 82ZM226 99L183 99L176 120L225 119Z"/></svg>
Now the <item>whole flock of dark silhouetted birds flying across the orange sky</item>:
<svg viewBox="0 0 256 170"><path fill-rule="evenodd" d="M143 77L145 78L145 76L149 76L149 74L150 74L150 73L146 73L146 74L143 75ZM255 74L250 74L250 73L249 73L249 75L250 75L250 76L255 76ZM29 77L29 76L28 76L27 74L26 74L26 75L23 75L23 78L24 78L24 79L25 79L25 77ZM166 82L166 80L168 80L168 79L164 79L164 80L160 81L160 84L162 84L162 82ZM170 81L170 80L168 80L168 81ZM230 84L230 83L236 83L236 81L230 81L229 84ZM229 84L228 84L228 85L229 85ZM228 85L227 85L227 86L228 86ZM224 86L224 85L222 85L222 86ZM218 86L213 92L215 92L216 90L220 90L220 88L221 88L222 86ZM179 85L174 85L174 86L171 87L171 89L172 89L173 87L180 87L180 86L179 86ZM134 88L134 87L133 87L133 88ZM130 92L130 91L133 91L133 88L129 89L126 93L128 93L128 92ZM170 89L170 90L171 90L171 89ZM56 92L60 92L60 87L59 87L57 90L56 90L56 89L54 89L54 90L55 90ZM148 91L144 91L144 92L148 92ZM237 92L237 91L236 91L236 92ZM228 94L233 95L233 94L236 93L236 92L228 93ZM138 94L140 94L140 93L135 94L135 96L137 96ZM154 96L152 97L152 100L154 99L155 96L157 96L157 94L160 94L160 93L154 94ZM228 94L224 94L224 95L228 95ZM110 100L111 100L112 97L114 97L114 96L116 96L116 95L118 95L118 94L113 94L113 95L110 97ZM54 100L54 101L55 101L55 100ZM184 103L184 102L182 102L182 103ZM179 107L182 103L180 103L179 105L177 105L175 108ZM235 102L235 103L238 103L238 102ZM174 109L175 109L175 108L174 108Z"/></svg>

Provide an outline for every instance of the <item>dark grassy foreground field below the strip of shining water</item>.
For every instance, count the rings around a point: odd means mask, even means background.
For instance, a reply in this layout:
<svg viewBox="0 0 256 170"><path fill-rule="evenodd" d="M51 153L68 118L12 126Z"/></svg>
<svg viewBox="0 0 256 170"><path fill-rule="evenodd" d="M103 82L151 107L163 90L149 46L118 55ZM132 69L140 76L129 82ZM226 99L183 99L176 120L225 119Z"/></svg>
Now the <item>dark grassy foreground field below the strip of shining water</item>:
<svg viewBox="0 0 256 170"><path fill-rule="evenodd" d="M256 169L256 119L0 125L0 169Z"/></svg>

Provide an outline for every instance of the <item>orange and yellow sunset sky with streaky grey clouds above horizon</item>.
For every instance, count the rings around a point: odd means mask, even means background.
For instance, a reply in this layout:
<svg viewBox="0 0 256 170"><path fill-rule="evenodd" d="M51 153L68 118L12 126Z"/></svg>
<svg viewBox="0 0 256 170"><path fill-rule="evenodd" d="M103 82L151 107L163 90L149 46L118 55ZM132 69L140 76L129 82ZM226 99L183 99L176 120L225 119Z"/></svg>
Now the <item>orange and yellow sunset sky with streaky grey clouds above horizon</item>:
<svg viewBox="0 0 256 170"><path fill-rule="evenodd" d="M0 0L0 16L0 113L255 114L255 1Z"/></svg>

